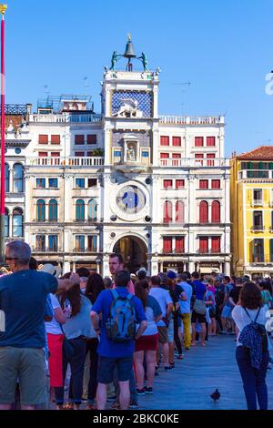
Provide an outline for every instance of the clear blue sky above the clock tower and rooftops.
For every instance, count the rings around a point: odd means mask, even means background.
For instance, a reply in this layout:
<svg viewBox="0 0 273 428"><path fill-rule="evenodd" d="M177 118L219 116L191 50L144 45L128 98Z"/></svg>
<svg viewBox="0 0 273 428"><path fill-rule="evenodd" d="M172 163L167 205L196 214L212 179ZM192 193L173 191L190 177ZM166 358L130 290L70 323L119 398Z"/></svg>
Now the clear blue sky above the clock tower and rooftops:
<svg viewBox="0 0 273 428"><path fill-rule="evenodd" d="M6 99L36 106L47 85L92 95L99 112L104 66L131 33L162 69L160 114L227 114L227 156L271 145L272 15L272 0L9 0Z"/></svg>

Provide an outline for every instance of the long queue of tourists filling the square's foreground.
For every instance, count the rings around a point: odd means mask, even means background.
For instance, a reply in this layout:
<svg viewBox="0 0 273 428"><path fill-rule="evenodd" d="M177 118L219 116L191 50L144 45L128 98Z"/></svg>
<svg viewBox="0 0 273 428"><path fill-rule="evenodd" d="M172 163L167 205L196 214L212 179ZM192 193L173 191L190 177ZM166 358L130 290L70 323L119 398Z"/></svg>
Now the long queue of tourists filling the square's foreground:
<svg viewBox="0 0 273 428"><path fill-rule="evenodd" d="M23 410L104 410L111 401L113 409L136 409L139 395L154 392L155 376L218 334L237 336L248 409L257 400L267 409L270 342L262 327L271 280L172 270L149 277L145 268L131 275L119 254L109 258L109 278L86 268L60 277L51 264L38 269L22 241L7 244L5 262L0 410L18 403Z"/></svg>

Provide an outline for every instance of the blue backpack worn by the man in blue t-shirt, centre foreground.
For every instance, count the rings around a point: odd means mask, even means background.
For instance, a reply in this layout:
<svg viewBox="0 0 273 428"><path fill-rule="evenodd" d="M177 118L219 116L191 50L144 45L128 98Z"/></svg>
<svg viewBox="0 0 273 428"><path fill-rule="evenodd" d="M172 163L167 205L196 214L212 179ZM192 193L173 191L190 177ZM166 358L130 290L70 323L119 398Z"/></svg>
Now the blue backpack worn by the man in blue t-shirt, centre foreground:
<svg viewBox="0 0 273 428"><path fill-rule="evenodd" d="M136 310L132 294L121 297L116 290L111 290L113 301L106 320L106 335L111 341L128 342L136 337Z"/></svg>

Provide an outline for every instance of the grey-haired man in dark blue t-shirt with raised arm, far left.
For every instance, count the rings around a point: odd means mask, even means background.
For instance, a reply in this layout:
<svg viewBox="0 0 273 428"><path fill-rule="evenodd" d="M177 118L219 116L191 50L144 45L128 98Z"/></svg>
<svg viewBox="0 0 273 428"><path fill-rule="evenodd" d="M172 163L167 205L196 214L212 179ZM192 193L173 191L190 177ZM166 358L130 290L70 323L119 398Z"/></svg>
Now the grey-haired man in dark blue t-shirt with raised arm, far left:
<svg viewBox="0 0 273 428"><path fill-rule="evenodd" d="M31 250L23 241L6 245L5 261L12 275L0 279L0 410L9 410L19 379L22 410L45 403L45 304L58 281L48 273L29 270Z"/></svg>

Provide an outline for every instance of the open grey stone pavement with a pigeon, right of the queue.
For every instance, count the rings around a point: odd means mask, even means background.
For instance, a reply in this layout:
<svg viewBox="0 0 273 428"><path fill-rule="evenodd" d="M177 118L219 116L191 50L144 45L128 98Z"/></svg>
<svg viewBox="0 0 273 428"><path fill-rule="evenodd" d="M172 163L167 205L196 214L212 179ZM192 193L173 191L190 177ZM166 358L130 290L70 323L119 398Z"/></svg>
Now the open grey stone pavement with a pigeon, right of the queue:
<svg viewBox="0 0 273 428"><path fill-rule="evenodd" d="M197 345L176 361L172 372L159 370L154 394L138 397L143 410L246 410L245 396L235 360L235 336L211 338L206 348ZM268 371L268 408L273 409L273 369ZM216 389L221 398L214 403Z"/></svg>

